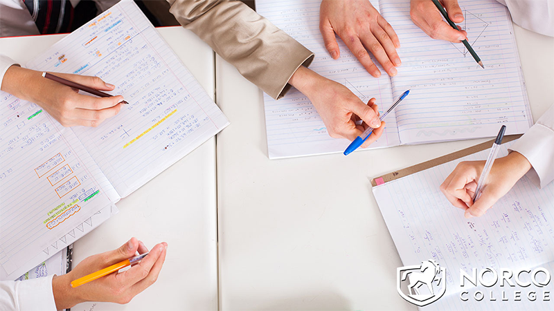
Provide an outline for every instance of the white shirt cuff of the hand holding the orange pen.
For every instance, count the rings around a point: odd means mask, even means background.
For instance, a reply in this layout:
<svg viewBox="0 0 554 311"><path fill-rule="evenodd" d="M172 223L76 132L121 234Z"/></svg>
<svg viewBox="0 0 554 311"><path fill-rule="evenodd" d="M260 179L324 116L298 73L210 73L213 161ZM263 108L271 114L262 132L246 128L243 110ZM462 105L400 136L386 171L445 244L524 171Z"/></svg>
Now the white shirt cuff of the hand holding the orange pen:
<svg viewBox="0 0 554 311"><path fill-rule="evenodd" d="M0 281L0 310L56 310L52 278L27 281Z"/></svg>

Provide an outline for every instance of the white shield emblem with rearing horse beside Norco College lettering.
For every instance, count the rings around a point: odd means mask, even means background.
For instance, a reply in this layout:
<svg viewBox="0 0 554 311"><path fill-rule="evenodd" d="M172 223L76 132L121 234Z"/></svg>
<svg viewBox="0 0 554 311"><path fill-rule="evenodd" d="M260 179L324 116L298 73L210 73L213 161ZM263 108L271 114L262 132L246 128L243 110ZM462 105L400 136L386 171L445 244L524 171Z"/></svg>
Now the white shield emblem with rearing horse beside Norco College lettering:
<svg viewBox="0 0 554 311"><path fill-rule="evenodd" d="M421 265L396 269L396 290L404 300L423 307L434 303L445 294L445 278L445 267L439 267L434 261L422 261Z"/></svg>

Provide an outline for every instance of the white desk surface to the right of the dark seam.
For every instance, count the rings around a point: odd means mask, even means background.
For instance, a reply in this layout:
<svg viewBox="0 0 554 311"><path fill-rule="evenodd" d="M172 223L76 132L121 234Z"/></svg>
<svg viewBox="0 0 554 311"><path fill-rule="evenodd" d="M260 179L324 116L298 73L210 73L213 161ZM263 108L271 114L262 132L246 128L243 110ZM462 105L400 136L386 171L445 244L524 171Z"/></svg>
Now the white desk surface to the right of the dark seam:
<svg viewBox="0 0 554 311"><path fill-rule="evenodd" d="M554 39L515 26L533 118L554 100ZM262 92L216 57L222 310L413 310L370 179L483 140L269 160ZM453 207L454 208L454 207Z"/></svg>

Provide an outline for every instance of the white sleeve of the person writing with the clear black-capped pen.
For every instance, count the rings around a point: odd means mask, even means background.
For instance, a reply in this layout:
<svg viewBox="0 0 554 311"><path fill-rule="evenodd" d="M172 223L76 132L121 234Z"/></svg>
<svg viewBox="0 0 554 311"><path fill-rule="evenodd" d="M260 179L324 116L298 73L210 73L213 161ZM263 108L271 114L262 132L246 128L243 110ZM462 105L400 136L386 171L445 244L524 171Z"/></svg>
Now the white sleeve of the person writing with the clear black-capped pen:
<svg viewBox="0 0 554 311"><path fill-rule="evenodd" d="M521 153L533 166L527 177L542 188L554 180L554 105L531 126L510 150Z"/></svg>

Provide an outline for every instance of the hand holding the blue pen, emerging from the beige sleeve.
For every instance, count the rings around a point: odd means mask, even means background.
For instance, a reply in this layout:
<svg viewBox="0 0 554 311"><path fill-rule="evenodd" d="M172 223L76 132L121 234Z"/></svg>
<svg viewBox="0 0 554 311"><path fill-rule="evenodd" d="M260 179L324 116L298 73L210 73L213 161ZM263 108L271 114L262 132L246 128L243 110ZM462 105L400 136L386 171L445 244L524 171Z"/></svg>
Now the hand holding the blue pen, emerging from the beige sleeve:
<svg viewBox="0 0 554 311"><path fill-rule="evenodd" d="M375 98L364 104L346 86L322 77L304 66L296 70L289 83L310 99L332 138L352 141L368 126L375 130L361 145L362 148L381 137L385 122L379 120ZM359 120L363 121L360 125L356 124Z"/></svg>

